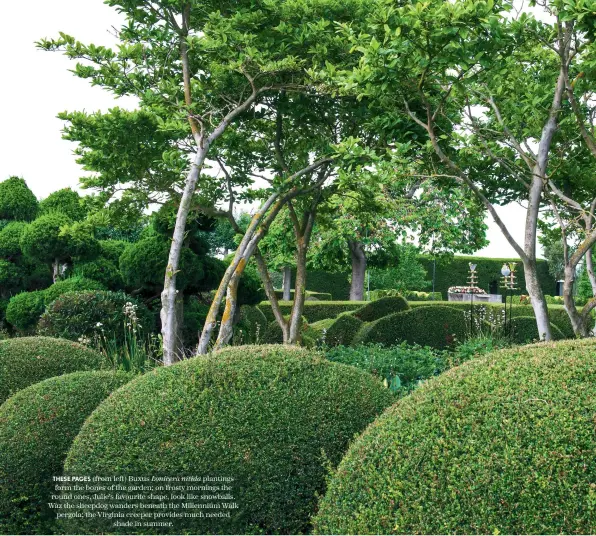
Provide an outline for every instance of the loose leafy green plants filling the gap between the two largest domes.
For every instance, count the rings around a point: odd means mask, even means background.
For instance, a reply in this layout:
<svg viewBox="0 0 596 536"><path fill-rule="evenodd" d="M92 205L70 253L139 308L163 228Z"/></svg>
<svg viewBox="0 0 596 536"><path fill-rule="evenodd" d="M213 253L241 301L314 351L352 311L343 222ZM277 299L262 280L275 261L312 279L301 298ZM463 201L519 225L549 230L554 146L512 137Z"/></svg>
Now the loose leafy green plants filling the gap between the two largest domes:
<svg viewBox="0 0 596 536"><path fill-rule="evenodd" d="M406 343L388 348L380 344L338 346L328 348L325 357L370 372L399 394L408 393L420 381L436 376L446 368L442 353Z"/></svg>

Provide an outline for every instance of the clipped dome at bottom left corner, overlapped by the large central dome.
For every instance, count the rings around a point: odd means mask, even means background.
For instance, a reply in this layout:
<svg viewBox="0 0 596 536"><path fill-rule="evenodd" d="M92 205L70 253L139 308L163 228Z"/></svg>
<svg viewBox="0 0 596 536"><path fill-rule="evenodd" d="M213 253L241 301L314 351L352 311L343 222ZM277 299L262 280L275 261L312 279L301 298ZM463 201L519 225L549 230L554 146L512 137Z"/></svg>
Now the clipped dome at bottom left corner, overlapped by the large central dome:
<svg viewBox="0 0 596 536"><path fill-rule="evenodd" d="M0 533L53 534L55 483L85 419L127 383L122 372L75 372L30 385L0 406Z"/></svg>

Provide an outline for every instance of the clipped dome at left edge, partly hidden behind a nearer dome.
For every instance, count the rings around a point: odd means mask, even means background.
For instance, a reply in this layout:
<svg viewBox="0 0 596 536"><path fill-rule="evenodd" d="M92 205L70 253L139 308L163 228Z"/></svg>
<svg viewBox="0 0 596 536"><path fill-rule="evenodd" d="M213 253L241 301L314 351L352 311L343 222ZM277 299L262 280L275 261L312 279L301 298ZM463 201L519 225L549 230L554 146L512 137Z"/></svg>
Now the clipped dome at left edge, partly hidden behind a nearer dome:
<svg viewBox="0 0 596 536"><path fill-rule="evenodd" d="M0 341L0 403L46 378L104 366L99 353L72 341L50 337Z"/></svg>

